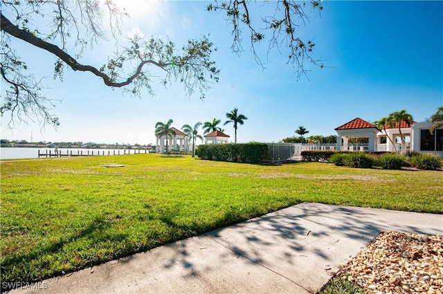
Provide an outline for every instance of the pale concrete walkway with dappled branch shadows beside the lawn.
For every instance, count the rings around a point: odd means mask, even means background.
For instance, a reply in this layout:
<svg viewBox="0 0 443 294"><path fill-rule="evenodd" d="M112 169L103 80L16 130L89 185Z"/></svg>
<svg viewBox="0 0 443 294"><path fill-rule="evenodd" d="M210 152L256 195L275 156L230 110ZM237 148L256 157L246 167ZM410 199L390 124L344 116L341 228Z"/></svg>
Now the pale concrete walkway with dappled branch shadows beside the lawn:
<svg viewBox="0 0 443 294"><path fill-rule="evenodd" d="M316 293L381 230L441 236L443 215L301 203L10 293Z"/></svg>

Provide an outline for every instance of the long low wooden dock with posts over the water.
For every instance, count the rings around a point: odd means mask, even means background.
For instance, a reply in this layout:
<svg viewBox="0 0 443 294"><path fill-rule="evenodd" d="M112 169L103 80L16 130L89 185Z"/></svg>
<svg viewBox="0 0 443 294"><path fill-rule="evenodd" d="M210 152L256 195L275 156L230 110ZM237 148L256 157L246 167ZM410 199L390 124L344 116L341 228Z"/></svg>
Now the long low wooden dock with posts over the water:
<svg viewBox="0 0 443 294"><path fill-rule="evenodd" d="M77 151L77 152L75 152ZM121 151L121 152L120 152ZM134 151L134 152L132 152ZM129 154L148 154L150 149L123 149L123 150L51 150L44 149L40 151L40 157L71 157L71 156L114 156L114 155L129 155Z"/></svg>

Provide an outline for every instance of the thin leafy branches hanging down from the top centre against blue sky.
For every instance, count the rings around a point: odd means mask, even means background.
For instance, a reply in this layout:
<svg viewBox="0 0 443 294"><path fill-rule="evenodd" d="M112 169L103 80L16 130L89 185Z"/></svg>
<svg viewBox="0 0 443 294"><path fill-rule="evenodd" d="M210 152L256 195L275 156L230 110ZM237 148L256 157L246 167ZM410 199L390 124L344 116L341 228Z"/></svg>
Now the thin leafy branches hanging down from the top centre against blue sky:
<svg viewBox="0 0 443 294"><path fill-rule="evenodd" d="M305 13L306 3L310 3L312 9L323 10L321 0L279 0L263 3L262 5L258 5L257 2L251 0L215 0L215 3L210 3L207 6L207 10L226 12L227 23L232 27L233 45L231 48L237 55L243 51L243 28L248 28L248 35L251 39L251 52L257 64L264 68L264 63L262 63L255 46L257 43L267 39L269 42L268 55L273 49L278 50L280 53L280 48L282 47L289 50L287 64L291 64L296 68L297 78L300 78L302 75L307 77L306 60L314 64L314 66L324 67L322 60L314 59L311 56L315 46L314 42L311 40L306 42L297 37L298 32L296 28L300 27L299 23L306 24L309 21L309 17ZM254 5L257 9L250 9L250 6ZM266 10L263 12L265 15L255 15L253 17L254 14L260 13L260 8L268 8L271 5L275 5L273 13ZM255 19L254 23L253 19ZM261 20L261 23L265 26L264 28L259 28L257 19Z"/></svg>

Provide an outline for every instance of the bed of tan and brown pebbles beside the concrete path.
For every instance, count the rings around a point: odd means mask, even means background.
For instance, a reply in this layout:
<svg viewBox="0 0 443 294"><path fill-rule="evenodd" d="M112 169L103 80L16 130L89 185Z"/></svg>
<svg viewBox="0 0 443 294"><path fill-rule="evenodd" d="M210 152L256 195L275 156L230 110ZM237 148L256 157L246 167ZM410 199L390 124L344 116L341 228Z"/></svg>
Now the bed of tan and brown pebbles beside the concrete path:
<svg viewBox="0 0 443 294"><path fill-rule="evenodd" d="M337 273L366 293L443 293L443 237L381 232Z"/></svg>

